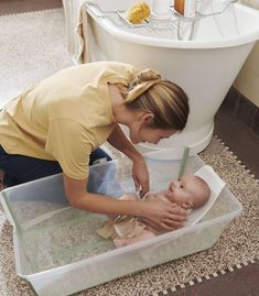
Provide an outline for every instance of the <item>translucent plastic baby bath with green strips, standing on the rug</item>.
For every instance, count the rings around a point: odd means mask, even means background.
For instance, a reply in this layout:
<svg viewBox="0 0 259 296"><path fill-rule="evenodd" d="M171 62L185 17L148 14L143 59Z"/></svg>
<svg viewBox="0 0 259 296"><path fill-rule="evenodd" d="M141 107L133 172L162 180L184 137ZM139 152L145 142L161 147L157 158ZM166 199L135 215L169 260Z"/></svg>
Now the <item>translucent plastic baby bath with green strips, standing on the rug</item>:
<svg viewBox="0 0 259 296"><path fill-rule="evenodd" d="M149 153L145 160L152 191L177 177L181 161L171 160L169 151ZM203 165L197 155L190 156L185 173ZM134 191L127 158L91 166L89 178L90 191L115 197ZM96 233L107 217L69 207L61 174L7 188L1 195L13 226L17 273L41 296L69 295L208 249L241 211L225 187L197 224L115 249L111 240Z"/></svg>

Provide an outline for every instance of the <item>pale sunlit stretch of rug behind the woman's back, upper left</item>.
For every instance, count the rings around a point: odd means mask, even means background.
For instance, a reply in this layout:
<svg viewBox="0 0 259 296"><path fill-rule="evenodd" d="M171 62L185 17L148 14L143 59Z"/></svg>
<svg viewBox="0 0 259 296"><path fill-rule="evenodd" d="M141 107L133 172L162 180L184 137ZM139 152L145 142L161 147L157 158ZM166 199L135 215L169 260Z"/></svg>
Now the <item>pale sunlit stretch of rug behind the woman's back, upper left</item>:
<svg viewBox="0 0 259 296"><path fill-rule="evenodd" d="M56 70L72 65L62 9L0 17L0 108Z"/></svg>

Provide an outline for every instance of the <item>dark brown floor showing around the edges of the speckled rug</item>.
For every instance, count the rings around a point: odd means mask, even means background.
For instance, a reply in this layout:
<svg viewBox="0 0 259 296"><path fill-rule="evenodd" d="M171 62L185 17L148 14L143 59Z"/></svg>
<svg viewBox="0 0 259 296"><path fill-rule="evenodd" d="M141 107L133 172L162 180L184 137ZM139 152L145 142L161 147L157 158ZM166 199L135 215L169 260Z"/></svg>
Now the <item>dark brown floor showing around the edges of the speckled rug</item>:
<svg viewBox="0 0 259 296"><path fill-rule="evenodd" d="M1 0L0 15L62 7L62 0ZM215 134L259 179L259 138L222 105L215 117ZM169 293L172 296L257 296L259 263ZM164 294L163 294L164 295Z"/></svg>

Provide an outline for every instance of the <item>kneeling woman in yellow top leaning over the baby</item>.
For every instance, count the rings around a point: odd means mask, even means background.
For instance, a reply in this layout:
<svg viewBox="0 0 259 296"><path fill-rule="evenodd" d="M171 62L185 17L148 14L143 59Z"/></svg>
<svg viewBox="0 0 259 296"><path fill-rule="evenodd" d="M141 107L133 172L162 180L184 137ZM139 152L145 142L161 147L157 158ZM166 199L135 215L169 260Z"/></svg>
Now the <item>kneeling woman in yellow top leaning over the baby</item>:
<svg viewBox="0 0 259 296"><path fill-rule="evenodd" d="M99 62L61 70L11 100L0 112L0 168L7 186L63 172L71 206L82 210L142 217L153 227L182 227L186 211L170 201L123 202L86 190L91 162L106 155L107 140L132 160L141 196L149 191L142 155L130 140L158 143L184 129L185 92L153 70ZM107 157L109 157L107 155Z"/></svg>

